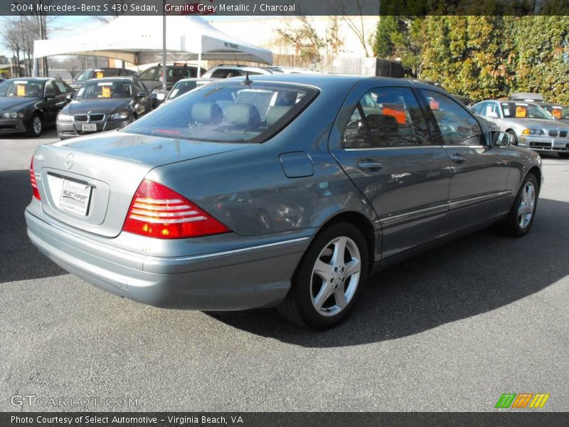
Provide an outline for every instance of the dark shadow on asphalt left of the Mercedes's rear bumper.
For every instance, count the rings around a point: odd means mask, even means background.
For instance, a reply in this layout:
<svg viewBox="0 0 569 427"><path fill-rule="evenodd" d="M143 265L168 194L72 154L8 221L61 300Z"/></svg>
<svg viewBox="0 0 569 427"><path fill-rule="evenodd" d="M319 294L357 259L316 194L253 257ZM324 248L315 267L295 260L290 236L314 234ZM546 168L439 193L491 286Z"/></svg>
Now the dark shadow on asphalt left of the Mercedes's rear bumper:
<svg viewBox="0 0 569 427"><path fill-rule="evenodd" d="M0 283L67 274L30 242L23 212L31 200L30 172L0 171Z"/></svg>

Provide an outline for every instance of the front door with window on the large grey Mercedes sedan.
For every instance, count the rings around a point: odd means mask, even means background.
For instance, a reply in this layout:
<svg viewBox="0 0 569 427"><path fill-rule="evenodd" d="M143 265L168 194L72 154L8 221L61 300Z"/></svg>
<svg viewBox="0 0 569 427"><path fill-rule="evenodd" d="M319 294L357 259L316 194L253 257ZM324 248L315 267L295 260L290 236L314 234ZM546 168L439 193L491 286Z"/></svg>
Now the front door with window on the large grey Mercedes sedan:
<svg viewBox="0 0 569 427"><path fill-rule="evenodd" d="M435 121L435 137L452 164L449 214L444 234L476 226L498 215L506 191L509 161L501 147L491 147L470 112L451 97L421 89ZM489 105L485 106L486 109Z"/></svg>

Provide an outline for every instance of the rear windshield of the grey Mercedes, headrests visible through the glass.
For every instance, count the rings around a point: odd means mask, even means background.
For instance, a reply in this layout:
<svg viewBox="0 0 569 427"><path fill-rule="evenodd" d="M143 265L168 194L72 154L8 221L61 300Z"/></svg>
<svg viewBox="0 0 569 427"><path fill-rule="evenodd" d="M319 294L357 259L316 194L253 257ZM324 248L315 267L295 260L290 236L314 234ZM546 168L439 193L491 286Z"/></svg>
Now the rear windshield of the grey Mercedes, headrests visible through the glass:
<svg viewBox="0 0 569 427"><path fill-rule="evenodd" d="M264 142L314 100L318 91L285 83L213 83L142 117L126 132L211 142Z"/></svg>

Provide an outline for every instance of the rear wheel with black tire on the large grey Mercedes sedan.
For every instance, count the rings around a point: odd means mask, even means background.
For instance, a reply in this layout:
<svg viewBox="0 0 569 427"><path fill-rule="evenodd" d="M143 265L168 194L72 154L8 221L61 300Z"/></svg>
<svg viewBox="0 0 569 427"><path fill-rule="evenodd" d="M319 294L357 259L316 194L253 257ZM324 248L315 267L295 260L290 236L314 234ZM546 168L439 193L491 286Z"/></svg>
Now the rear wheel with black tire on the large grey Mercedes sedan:
<svg viewBox="0 0 569 427"><path fill-rule="evenodd" d="M342 267L338 268L336 272L334 272L334 254L340 246L333 244L335 239L345 239L346 241L344 260L339 262L339 265L342 265ZM331 253L329 253L330 251ZM323 255L323 253L326 253L326 255ZM345 275L345 273L349 272L348 268L351 260L356 259L356 257L351 258L352 254L359 255L360 268L358 273ZM326 262L328 255L330 259ZM368 258L366 239L356 226L351 223L341 222L324 228L314 238L314 241L312 241L306 253L304 253L292 278L291 289L285 301L278 307L280 314L290 322L316 330L326 330L338 325L349 315L358 295L361 294L366 284L369 270ZM321 260L325 263L324 265L329 265L331 272L329 281L324 281L317 274L313 276L313 269L317 260ZM343 268L346 268L346 270ZM355 287L353 286L354 283ZM331 293L326 294L325 288ZM317 292L318 290L319 292ZM313 298L320 295L320 292L321 295L329 295L329 297L321 298L323 303L321 308L317 310L313 303ZM338 300L339 292L344 295L342 297L344 303ZM345 302L347 304L340 308ZM334 314L336 310L339 311ZM326 315L321 314L323 312L326 312Z"/></svg>

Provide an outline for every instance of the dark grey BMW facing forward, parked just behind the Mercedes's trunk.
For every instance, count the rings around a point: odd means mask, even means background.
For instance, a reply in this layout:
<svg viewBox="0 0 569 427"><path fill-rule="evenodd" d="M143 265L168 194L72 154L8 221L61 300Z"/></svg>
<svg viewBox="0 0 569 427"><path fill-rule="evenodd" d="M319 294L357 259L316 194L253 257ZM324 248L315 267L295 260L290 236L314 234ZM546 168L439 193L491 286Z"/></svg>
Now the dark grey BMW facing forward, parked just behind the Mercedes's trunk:
<svg viewBox="0 0 569 427"><path fill-rule="evenodd" d="M57 119L60 139L119 129L151 112L147 88L136 77L87 80Z"/></svg>

